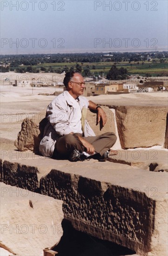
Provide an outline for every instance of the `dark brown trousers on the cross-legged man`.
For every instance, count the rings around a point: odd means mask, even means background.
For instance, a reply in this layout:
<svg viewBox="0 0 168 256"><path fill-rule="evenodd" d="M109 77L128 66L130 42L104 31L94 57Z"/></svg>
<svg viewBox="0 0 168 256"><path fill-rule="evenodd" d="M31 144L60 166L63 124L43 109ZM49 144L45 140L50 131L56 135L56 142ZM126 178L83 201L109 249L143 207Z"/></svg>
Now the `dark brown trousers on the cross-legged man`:
<svg viewBox="0 0 168 256"><path fill-rule="evenodd" d="M104 133L102 135L83 138L92 144L95 152L100 155L103 155L107 150L109 150L117 140L114 133ZM74 149L77 149L80 152L86 151L86 148L81 144L81 141L76 134L61 136L55 143L53 157L55 158L55 156L59 155L67 158Z"/></svg>

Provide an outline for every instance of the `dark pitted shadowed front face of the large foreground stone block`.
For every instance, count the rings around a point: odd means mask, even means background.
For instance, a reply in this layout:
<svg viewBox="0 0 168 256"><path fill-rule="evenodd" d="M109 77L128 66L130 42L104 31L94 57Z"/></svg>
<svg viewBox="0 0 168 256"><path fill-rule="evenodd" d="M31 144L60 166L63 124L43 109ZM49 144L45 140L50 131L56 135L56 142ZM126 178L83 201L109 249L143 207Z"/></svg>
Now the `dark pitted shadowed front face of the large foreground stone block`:
<svg viewBox="0 0 168 256"><path fill-rule="evenodd" d="M155 201L143 193L57 170L41 179L40 190L55 199L64 198L65 218L75 229L125 247L131 244L138 253L148 252Z"/></svg>

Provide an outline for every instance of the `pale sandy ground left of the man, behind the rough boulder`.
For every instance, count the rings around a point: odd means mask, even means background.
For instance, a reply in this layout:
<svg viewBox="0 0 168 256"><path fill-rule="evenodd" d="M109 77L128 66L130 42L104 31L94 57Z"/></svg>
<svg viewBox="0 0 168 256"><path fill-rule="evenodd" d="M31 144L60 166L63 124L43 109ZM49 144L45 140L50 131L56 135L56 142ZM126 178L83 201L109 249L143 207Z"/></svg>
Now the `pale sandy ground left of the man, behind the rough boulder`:
<svg viewBox="0 0 168 256"><path fill-rule="evenodd" d="M0 140L1 149L15 149L13 142L26 117L32 117L47 108L55 96L38 95L53 94L60 88L34 88L0 86Z"/></svg>

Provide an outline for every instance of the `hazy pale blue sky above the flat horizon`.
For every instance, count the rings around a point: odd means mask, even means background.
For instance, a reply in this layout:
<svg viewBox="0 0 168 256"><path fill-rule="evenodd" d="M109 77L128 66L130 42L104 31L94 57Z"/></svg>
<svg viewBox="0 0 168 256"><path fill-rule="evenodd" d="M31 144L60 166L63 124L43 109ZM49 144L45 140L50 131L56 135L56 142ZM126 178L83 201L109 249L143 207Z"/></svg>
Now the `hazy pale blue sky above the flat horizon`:
<svg viewBox="0 0 168 256"><path fill-rule="evenodd" d="M167 0L1 0L1 54L168 50Z"/></svg>

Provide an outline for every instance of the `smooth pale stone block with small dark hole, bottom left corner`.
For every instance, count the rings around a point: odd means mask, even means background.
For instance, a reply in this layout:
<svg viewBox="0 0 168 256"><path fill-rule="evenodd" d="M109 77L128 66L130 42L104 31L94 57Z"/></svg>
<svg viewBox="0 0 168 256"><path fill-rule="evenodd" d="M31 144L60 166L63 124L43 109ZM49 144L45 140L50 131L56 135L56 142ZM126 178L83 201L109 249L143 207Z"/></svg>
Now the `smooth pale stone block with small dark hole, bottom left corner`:
<svg viewBox="0 0 168 256"><path fill-rule="evenodd" d="M43 256L43 249L54 247L63 235L62 201L0 185L0 246L14 255Z"/></svg>

